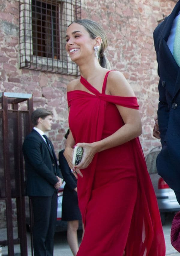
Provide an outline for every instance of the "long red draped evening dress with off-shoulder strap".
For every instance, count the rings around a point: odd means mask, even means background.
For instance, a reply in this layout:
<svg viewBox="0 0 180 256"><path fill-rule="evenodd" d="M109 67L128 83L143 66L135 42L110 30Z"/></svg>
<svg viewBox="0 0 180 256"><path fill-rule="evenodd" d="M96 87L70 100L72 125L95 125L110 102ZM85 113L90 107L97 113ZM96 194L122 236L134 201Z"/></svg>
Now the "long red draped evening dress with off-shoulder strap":
<svg viewBox="0 0 180 256"><path fill-rule="evenodd" d="M116 107L138 109L136 97L105 95L82 76L88 92L67 93L69 127L76 143L95 142L124 125ZM77 256L164 256L157 200L139 138L97 153L81 170L77 190L85 234Z"/></svg>

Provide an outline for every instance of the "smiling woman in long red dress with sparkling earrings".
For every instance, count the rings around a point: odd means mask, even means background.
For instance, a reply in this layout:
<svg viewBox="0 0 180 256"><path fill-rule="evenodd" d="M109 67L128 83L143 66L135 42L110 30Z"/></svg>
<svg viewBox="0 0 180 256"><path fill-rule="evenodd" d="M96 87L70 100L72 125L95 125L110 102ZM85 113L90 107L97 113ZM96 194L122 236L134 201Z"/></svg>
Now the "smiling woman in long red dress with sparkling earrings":
<svg viewBox="0 0 180 256"><path fill-rule="evenodd" d="M81 74L67 86L70 134L64 151L78 174L85 226L77 256L164 256L160 214L138 138L142 128L134 92L121 72L110 70L106 34L97 23L74 21L66 41ZM76 167L74 145L84 149Z"/></svg>

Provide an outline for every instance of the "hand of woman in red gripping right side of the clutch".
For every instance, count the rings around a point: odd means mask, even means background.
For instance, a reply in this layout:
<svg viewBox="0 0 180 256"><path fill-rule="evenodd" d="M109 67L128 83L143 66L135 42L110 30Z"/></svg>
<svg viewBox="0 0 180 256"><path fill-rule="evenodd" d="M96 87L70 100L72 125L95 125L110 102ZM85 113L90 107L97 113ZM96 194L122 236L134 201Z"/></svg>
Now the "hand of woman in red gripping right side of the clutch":
<svg viewBox="0 0 180 256"><path fill-rule="evenodd" d="M94 143L77 143L76 146L83 148L82 160L76 166L76 173L79 173L78 169L85 169L91 164L94 155L97 153L96 142ZM79 173L80 174L80 173Z"/></svg>

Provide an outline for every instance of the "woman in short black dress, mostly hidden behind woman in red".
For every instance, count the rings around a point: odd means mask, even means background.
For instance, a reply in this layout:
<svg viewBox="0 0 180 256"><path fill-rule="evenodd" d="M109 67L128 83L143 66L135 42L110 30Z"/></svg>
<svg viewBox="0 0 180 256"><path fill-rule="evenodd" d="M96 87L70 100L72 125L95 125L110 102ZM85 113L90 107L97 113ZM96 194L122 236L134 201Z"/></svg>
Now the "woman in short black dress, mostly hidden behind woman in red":
<svg viewBox="0 0 180 256"><path fill-rule="evenodd" d="M69 130L65 134L66 139L69 134L68 132ZM73 173L71 173L63 152L64 149L59 152L59 167L66 182L62 197L62 220L67 221L67 242L73 255L76 256L78 251L77 229L79 227L79 220L81 220L77 199L77 180Z"/></svg>

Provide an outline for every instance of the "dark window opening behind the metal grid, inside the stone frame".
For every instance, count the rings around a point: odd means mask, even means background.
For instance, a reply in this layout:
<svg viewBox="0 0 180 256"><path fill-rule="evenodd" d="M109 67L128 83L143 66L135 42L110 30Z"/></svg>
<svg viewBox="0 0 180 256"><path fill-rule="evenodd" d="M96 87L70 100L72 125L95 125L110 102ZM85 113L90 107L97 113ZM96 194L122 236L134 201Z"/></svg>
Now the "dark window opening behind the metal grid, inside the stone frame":
<svg viewBox="0 0 180 256"><path fill-rule="evenodd" d="M32 0L33 55L60 58L58 5Z"/></svg>

